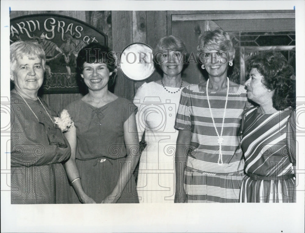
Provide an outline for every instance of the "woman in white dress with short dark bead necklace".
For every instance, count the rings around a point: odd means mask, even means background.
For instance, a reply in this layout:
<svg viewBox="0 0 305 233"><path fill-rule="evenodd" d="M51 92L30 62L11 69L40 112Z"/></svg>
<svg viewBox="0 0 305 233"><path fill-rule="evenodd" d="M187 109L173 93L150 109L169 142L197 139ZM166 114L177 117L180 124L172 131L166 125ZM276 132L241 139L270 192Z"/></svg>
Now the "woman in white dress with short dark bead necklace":
<svg viewBox="0 0 305 233"><path fill-rule="evenodd" d="M140 157L137 191L140 203L174 203L174 161L178 131L174 129L180 94L189 83L181 78L186 48L174 36L163 37L154 50L163 77L144 83L134 104L139 140L145 132L146 147Z"/></svg>

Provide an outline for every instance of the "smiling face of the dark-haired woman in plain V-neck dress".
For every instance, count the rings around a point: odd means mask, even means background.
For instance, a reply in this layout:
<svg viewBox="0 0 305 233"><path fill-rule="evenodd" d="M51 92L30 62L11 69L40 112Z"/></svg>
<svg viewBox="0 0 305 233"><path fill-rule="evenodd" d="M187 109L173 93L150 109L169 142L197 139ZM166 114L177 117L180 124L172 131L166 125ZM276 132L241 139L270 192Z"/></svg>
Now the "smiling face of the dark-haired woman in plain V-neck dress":
<svg viewBox="0 0 305 233"><path fill-rule="evenodd" d="M97 91L102 89L108 89L109 76L112 72L106 63L84 63L84 70L81 77L84 79L85 84L89 90Z"/></svg>

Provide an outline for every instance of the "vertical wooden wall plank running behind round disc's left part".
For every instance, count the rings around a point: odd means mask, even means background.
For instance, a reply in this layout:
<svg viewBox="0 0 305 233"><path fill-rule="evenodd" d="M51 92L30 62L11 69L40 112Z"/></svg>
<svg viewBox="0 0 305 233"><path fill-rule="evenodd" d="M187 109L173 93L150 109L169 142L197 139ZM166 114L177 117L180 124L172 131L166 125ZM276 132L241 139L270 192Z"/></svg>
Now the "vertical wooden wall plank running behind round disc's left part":
<svg viewBox="0 0 305 233"><path fill-rule="evenodd" d="M132 12L112 11L113 51L121 52L132 43ZM134 95L134 83L118 69L114 94L131 99Z"/></svg>

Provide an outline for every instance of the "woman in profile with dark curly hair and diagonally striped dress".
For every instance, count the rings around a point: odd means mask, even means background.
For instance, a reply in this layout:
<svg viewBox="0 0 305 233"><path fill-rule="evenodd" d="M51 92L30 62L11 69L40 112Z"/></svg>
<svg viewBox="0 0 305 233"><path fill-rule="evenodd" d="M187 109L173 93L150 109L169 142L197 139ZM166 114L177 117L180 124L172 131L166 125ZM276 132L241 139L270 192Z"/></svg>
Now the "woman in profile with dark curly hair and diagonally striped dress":
<svg viewBox="0 0 305 233"><path fill-rule="evenodd" d="M250 59L247 97L258 106L246 108L241 147L245 173L240 202L295 202L295 111L293 68L278 52ZM290 106L289 106L290 105Z"/></svg>

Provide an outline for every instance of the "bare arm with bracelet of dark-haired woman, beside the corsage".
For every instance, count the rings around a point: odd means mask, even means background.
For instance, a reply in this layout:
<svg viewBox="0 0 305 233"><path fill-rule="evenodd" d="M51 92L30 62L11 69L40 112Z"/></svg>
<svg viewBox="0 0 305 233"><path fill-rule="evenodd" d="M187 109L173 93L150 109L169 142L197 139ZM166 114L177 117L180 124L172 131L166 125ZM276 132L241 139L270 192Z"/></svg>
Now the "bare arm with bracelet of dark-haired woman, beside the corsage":
<svg viewBox="0 0 305 233"><path fill-rule="evenodd" d="M75 162L75 154L76 154L76 128L74 126L74 122L72 122L72 125L68 132L64 134L66 136L66 139L68 140L70 146L71 146L71 156L68 161L64 164L64 167L66 169L66 173L68 176L68 179L73 181L72 186L77 194L78 199L81 203L87 204L87 203L96 203L92 198L86 195L84 192L84 189L81 185L81 180L76 179L79 178L79 171L76 166ZM76 180L75 180L76 179Z"/></svg>

